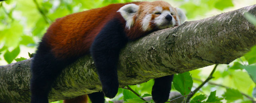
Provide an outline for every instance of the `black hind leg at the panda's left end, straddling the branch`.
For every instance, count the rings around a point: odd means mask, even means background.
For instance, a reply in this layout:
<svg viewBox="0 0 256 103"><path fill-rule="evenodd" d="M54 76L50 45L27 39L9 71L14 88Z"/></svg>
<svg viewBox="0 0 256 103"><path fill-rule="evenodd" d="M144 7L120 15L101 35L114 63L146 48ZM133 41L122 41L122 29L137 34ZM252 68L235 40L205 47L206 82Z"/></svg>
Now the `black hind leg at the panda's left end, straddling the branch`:
<svg viewBox="0 0 256 103"><path fill-rule="evenodd" d="M40 42L31 65L31 103L48 103L47 97L51 85L59 76L63 66L64 63L55 59L46 44Z"/></svg>

